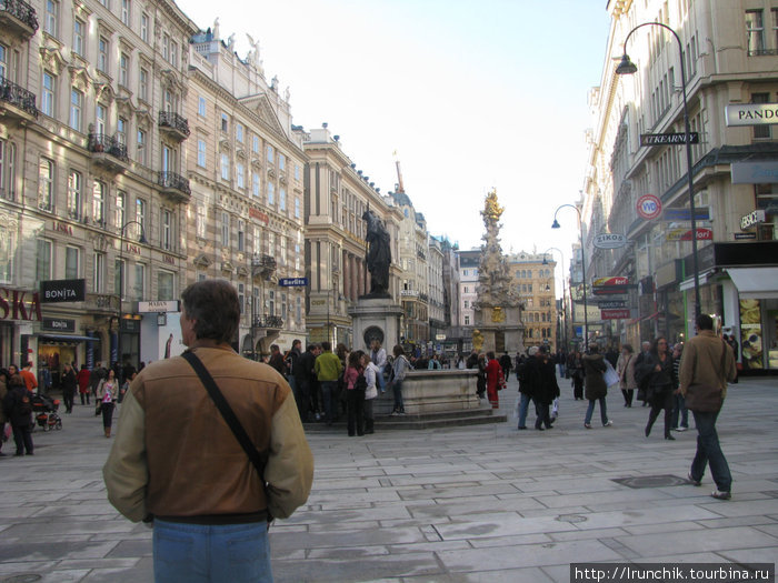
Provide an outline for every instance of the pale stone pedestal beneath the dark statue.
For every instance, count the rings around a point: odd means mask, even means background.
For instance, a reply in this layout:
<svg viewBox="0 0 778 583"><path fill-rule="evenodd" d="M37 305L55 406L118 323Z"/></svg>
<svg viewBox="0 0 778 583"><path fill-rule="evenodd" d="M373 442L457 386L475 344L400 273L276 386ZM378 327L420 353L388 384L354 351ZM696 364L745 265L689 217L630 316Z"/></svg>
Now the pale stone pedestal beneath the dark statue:
<svg viewBox="0 0 778 583"><path fill-rule="evenodd" d="M378 339L387 354L391 354L395 344L400 343L402 306L391 298L362 295L357 305L349 308L349 315L353 326L353 350L369 352L371 341Z"/></svg>

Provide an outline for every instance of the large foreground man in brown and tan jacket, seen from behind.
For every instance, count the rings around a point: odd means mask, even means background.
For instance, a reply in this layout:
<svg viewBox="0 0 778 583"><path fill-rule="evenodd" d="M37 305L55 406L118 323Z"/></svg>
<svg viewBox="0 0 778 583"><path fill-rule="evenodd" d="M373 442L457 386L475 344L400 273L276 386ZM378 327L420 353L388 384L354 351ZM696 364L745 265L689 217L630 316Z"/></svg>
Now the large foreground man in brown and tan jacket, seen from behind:
<svg viewBox="0 0 778 583"><path fill-rule="evenodd" d="M153 521L158 583L200 581L196 572L210 581L271 581L268 513L289 516L313 476L295 398L281 374L232 350L240 305L230 283L197 282L181 299L183 343L266 452L267 490L194 370L174 356L146 366L124 396L103 468L108 497L131 521ZM238 547L240 561L232 561Z"/></svg>

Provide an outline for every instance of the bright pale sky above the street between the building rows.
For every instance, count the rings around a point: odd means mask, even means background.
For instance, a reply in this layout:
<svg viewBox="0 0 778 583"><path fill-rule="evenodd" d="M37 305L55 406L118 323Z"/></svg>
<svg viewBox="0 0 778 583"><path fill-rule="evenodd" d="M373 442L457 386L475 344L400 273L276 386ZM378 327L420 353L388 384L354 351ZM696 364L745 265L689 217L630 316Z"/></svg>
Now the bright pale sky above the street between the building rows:
<svg viewBox="0 0 778 583"><path fill-rule="evenodd" d="M606 0L178 0L203 30L259 39L266 78L291 92L293 122L329 124L382 193L406 192L433 235L481 243L491 188L502 249L562 249L584 182L587 93L599 84ZM558 257L558 254L557 254Z"/></svg>

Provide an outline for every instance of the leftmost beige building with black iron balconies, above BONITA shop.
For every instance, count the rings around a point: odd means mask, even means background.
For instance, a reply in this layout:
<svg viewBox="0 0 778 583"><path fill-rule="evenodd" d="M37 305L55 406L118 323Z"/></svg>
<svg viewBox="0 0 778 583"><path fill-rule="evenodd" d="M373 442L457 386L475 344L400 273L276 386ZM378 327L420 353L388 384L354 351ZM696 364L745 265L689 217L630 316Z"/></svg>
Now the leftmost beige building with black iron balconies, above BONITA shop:
<svg viewBox="0 0 778 583"><path fill-rule="evenodd" d="M0 285L29 298L86 281L83 301L43 303L40 320L9 314L0 360L58 379L64 361L162 358L174 319L139 302L179 296L189 185L157 120L181 113L198 29L167 0L4 0L0 29Z"/></svg>

